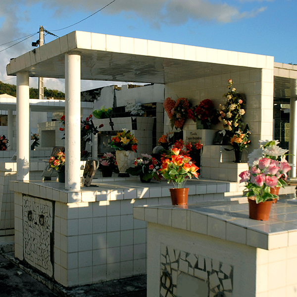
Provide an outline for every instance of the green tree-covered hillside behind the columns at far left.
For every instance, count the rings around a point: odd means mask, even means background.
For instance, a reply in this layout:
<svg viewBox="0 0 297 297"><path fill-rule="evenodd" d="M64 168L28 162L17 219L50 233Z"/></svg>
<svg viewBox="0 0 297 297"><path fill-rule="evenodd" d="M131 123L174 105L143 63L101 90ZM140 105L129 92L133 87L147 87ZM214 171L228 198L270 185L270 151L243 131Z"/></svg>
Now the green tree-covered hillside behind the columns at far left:
<svg viewBox="0 0 297 297"><path fill-rule="evenodd" d="M7 94L16 97L16 85L4 84L0 81L0 94ZM65 94L58 90L44 88L44 96L53 99L65 99ZM35 88L29 89L30 99L39 99L39 91Z"/></svg>

